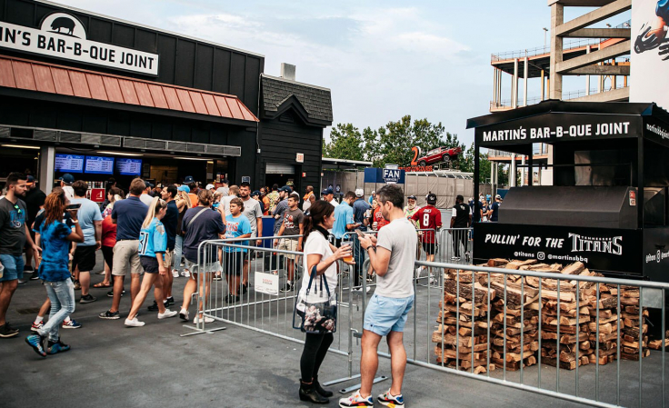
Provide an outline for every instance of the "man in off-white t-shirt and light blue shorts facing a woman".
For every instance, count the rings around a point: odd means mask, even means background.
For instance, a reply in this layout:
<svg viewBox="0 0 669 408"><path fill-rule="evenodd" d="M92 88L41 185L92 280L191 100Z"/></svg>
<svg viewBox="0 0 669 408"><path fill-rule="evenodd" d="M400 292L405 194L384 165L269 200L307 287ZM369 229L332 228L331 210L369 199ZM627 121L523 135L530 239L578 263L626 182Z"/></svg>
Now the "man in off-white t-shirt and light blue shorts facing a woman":
<svg viewBox="0 0 669 408"><path fill-rule="evenodd" d="M385 406L404 406L402 382L406 368L403 332L406 317L414 306L414 263L417 236L415 226L404 216L404 193L395 184L384 186L376 200L389 221L378 239L360 238L376 272L376 291L364 311L363 355L360 360L360 390L339 400L340 407L374 406L372 383L378 368L378 346L386 336L391 355L393 383L377 401Z"/></svg>

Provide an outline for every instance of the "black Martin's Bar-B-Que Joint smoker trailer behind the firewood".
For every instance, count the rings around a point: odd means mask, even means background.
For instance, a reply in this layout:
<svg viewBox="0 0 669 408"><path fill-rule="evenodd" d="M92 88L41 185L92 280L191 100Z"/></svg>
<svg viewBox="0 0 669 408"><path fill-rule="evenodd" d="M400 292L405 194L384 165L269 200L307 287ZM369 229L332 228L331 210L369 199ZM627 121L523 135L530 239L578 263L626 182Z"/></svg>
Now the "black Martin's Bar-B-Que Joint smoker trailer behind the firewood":
<svg viewBox="0 0 669 408"><path fill-rule="evenodd" d="M474 223L474 263L582 261L607 275L669 282L667 111L550 100L469 119L467 128L475 129L474 180L481 148L524 154L533 169L533 144L553 147L542 164L552 185L533 185L530 171L528 185L504 197L497 223Z"/></svg>

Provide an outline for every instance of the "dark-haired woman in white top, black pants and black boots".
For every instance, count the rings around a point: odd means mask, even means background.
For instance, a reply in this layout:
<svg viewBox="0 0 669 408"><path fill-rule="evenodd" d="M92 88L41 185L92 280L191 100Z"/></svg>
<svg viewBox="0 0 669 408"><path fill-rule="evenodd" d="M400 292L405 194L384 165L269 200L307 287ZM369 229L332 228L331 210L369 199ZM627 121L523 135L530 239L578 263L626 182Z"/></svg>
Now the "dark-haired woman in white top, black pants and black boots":
<svg viewBox="0 0 669 408"><path fill-rule="evenodd" d="M330 292L337 288L337 265L340 259L352 259L351 246L344 245L336 248L327 241L327 230L335 224L335 207L326 201L316 201L309 209L310 214L305 216L304 247L305 276L302 278L300 294L306 294L309 286L309 277L316 266L318 276L325 275ZM352 263L353 264L353 263ZM314 277L315 278L315 277ZM315 279L314 279L315 280ZM310 293L309 296L312 294ZM311 301L307 299L307 301ZM329 403L327 397L332 392L324 390L318 383L318 370L325 359L327 349L334 340L332 333L306 333L305 349L300 359L300 400L311 403Z"/></svg>

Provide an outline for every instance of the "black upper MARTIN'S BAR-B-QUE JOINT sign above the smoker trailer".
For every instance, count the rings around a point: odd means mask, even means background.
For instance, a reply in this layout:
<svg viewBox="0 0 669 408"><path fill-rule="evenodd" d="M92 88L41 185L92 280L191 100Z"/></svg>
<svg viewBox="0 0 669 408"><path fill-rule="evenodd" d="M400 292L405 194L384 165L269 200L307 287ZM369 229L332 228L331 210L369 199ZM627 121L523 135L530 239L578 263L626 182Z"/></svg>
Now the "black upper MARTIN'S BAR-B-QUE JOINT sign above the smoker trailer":
<svg viewBox="0 0 669 408"><path fill-rule="evenodd" d="M477 127L478 145L551 143L638 137L640 119L612 114L541 114Z"/></svg>

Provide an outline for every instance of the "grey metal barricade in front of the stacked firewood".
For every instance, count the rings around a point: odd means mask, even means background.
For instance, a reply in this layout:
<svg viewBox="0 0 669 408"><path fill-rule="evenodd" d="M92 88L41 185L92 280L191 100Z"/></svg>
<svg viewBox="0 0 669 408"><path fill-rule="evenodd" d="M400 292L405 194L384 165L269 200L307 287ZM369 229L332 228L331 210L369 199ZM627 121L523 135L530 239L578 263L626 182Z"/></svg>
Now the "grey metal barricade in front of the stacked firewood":
<svg viewBox="0 0 669 408"><path fill-rule="evenodd" d="M665 344L649 343L646 319L661 319L664 339L669 284L573 265L416 264L444 279L436 289L415 286L408 363L594 406L666 405Z"/></svg>

